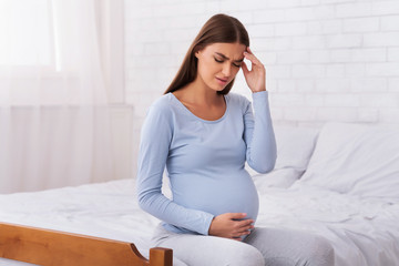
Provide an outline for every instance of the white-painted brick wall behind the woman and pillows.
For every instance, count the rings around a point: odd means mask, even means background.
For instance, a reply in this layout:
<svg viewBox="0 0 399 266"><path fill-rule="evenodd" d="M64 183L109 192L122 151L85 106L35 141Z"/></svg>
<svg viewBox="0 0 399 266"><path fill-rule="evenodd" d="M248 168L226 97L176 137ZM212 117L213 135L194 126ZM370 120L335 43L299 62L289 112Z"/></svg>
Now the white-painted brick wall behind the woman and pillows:
<svg viewBox="0 0 399 266"><path fill-rule="evenodd" d="M275 124L399 122L398 0L125 0L126 95L137 130L218 12L246 25ZM241 72L233 91L249 96Z"/></svg>

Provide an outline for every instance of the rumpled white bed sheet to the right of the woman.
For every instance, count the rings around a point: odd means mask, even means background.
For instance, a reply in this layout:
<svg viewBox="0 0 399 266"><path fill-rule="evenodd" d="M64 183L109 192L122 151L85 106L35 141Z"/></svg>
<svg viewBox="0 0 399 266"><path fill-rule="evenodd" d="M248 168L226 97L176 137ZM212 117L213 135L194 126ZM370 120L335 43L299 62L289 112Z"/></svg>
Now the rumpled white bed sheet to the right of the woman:
<svg viewBox="0 0 399 266"><path fill-rule="evenodd" d="M311 186L267 188L257 226L293 228L324 236L336 265L399 265L399 204Z"/></svg>

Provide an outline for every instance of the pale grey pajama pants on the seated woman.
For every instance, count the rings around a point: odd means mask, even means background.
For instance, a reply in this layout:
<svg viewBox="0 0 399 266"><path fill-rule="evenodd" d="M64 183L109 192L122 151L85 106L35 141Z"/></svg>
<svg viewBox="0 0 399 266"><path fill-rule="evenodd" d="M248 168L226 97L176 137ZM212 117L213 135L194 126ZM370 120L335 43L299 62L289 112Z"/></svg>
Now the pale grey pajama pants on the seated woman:
<svg viewBox="0 0 399 266"><path fill-rule="evenodd" d="M244 242L176 234L158 225L153 244L173 249L173 265L334 266L334 248L323 237L299 231L255 228Z"/></svg>

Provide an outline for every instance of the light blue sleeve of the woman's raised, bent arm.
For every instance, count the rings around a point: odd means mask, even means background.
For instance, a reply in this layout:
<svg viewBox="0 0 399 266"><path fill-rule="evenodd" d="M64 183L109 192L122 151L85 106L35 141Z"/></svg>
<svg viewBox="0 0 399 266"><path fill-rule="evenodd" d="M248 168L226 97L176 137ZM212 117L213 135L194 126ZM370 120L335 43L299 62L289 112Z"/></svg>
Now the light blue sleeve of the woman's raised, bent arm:
<svg viewBox="0 0 399 266"><path fill-rule="evenodd" d="M258 173L270 172L276 163L277 149L273 131L268 92L253 93L253 108L248 102L244 114L244 140L247 145L246 161Z"/></svg>

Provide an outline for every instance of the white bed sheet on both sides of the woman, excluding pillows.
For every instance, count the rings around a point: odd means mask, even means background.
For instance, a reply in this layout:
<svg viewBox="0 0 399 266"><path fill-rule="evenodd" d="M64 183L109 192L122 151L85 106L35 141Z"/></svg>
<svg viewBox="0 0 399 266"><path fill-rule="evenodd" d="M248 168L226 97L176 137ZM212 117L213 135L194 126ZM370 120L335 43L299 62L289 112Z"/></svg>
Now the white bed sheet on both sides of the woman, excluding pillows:
<svg viewBox="0 0 399 266"><path fill-rule="evenodd" d="M399 204L303 184L258 190L256 226L321 235L334 245L339 266L399 265ZM158 223L140 209L133 180L0 195L0 221L132 242L144 256Z"/></svg>

